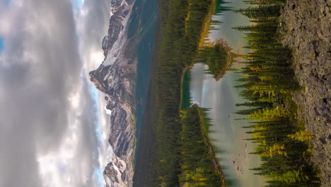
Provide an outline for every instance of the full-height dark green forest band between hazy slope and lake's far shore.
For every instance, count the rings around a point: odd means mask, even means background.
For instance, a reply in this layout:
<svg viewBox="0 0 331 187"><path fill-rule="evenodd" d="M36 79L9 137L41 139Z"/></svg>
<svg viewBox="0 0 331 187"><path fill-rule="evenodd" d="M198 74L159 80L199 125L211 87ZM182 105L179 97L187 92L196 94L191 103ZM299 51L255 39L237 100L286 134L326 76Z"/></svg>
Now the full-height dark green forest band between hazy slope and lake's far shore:
<svg viewBox="0 0 331 187"><path fill-rule="evenodd" d="M156 106L156 179L154 186L179 186L180 81L197 55L211 0L159 1L163 25L158 55Z"/></svg>

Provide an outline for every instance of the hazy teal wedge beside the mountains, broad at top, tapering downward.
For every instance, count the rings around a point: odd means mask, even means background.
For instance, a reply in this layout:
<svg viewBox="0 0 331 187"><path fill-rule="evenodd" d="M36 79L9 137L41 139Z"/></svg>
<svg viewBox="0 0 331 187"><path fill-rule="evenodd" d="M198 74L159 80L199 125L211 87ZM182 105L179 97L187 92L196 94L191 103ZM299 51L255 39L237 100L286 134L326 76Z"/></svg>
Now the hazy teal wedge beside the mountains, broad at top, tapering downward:
<svg viewBox="0 0 331 187"><path fill-rule="evenodd" d="M158 21L158 1L136 0L135 6L135 14L132 15L129 36L132 35L139 40L137 44L138 64L136 81L136 138L138 144L148 99L153 45L156 39L156 25Z"/></svg>

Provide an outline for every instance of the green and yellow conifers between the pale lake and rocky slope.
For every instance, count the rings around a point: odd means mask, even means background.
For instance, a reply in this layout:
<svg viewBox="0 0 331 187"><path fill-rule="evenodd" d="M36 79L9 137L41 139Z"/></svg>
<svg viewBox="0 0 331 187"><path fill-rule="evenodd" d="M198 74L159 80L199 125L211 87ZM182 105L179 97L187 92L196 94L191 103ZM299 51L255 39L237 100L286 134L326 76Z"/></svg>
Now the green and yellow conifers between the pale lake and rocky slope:
<svg viewBox="0 0 331 187"><path fill-rule="evenodd" d="M310 166L312 135L296 118L296 104L291 100L298 91L291 70L291 50L283 47L278 38L279 9L286 1L250 0L250 8L237 12L248 16L252 26L240 26L252 52L245 57L241 96L250 109L238 111L251 120L252 141L257 143L262 165L253 170L268 179L267 186L319 186L320 179ZM256 6L257 5L257 6ZM285 30L286 31L286 30Z"/></svg>

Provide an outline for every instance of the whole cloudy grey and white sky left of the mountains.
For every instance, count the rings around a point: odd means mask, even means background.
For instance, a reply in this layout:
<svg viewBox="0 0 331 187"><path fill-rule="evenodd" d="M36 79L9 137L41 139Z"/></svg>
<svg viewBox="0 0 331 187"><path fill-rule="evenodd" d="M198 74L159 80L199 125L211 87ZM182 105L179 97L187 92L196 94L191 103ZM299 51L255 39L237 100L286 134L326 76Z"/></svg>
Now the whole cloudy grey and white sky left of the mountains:
<svg viewBox="0 0 331 187"><path fill-rule="evenodd" d="M0 0L0 186L103 186L109 0Z"/></svg>

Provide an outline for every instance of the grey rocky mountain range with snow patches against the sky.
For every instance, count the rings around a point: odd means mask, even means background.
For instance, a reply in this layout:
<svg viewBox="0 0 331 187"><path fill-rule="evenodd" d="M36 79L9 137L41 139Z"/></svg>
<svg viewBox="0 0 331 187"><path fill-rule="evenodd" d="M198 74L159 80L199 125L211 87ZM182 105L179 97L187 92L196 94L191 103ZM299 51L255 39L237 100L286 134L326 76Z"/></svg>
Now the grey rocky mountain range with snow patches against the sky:
<svg viewBox="0 0 331 187"><path fill-rule="evenodd" d="M103 176L108 187L132 186L134 157L134 77L136 60L129 51L127 23L134 0L112 0L108 35L102 47L105 60L89 73L97 89L105 93L110 115L109 142L114 150Z"/></svg>

